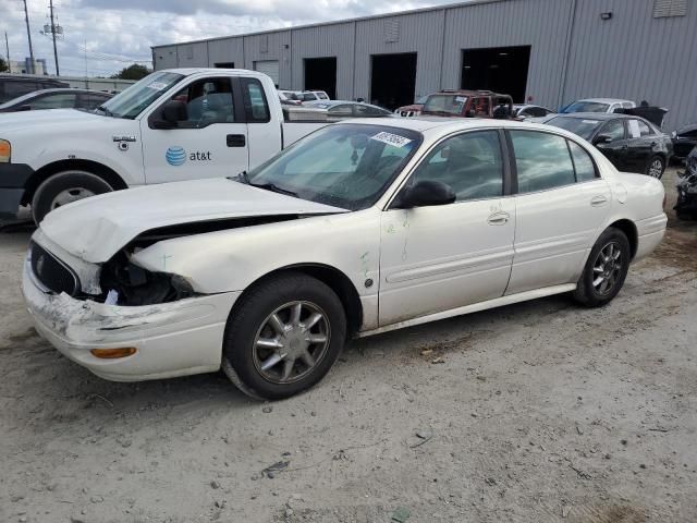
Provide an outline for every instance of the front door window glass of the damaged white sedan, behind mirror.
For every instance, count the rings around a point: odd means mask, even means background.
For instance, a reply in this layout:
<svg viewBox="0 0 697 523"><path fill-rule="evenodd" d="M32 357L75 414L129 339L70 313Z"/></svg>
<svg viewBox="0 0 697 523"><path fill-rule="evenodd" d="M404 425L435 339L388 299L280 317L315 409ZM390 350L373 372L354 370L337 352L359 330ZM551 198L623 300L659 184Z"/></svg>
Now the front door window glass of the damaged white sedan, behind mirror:
<svg viewBox="0 0 697 523"><path fill-rule="evenodd" d="M414 172L413 182L449 185L456 202L503 195L503 160L497 131L460 134L441 142Z"/></svg>

